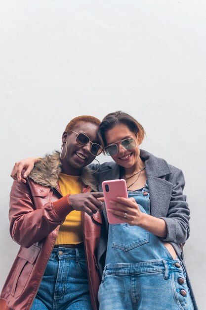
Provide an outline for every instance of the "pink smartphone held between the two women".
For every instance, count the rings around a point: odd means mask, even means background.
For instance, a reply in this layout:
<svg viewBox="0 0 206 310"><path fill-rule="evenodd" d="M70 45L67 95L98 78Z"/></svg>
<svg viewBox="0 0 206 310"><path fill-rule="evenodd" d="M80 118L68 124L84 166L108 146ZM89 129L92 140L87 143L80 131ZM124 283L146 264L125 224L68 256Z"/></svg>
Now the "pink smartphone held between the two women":
<svg viewBox="0 0 206 310"><path fill-rule="evenodd" d="M118 210L117 207L114 207L109 203L110 200L116 201L116 197L128 198L126 181L124 179L111 180L102 182L103 194L105 198L105 206L107 208ZM122 210L121 210L122 211ZM107 211L107 218L110 224L120 224L125 223L124 219L121 220L116 218L112 213Z"/></svg>

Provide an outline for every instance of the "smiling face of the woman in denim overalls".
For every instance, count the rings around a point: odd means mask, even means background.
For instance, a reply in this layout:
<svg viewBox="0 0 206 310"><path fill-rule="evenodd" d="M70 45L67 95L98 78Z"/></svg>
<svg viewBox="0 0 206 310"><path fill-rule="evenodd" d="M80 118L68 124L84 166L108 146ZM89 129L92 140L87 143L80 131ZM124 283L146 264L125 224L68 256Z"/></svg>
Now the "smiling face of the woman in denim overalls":
<svg viewBox="0 0 206 310"><path fill-rule="evenodd" d="M125 150L121 143L118 142L118 153L111 157L116 163L124 167L125 171L132 171L143 166L143 162L140 158L138 135L136 136L135 133L133 133L125 124L115 125L113 128L105 132L107 146L126 138L134 138L136 146L132 149Z"/></svg>

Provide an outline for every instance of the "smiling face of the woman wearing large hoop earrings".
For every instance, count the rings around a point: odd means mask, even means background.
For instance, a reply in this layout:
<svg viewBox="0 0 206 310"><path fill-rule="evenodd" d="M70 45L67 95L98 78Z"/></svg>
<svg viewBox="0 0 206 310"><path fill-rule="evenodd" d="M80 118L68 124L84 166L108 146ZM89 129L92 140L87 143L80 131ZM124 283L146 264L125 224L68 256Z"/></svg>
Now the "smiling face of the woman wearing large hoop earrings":
<svg viewBox="0 0 206 310"><path fill-rule="evenodd" d="M90 122L80 121L72 129L77 133L84 133L87 135L92 143L100 144L97 138L98 126ZM80 146L76 142L77 134L72 132L71 134L63 133L62 142L67 142L68 148L65 158L62 162L62 172L70 175L80 175L82 168L90 164L95 156L90 153L91 143L87 143L84 146ZM63 150L63 154L65 150Z"/></svg>

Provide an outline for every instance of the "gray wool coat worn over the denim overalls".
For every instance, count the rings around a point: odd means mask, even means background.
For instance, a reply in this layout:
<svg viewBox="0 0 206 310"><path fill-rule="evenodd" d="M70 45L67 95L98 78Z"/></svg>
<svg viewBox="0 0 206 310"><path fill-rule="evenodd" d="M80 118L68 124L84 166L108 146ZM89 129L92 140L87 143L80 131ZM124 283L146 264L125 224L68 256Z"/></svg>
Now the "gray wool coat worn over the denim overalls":
<svg viewBox="0 0 206 310"><path fill-rule="evenodd" d="M150 192L151 215L165 220L167 236L161 239L173 246L186 270L182 244L189 237L190 210L186 203L186 196L183 195L185 186L183 173L180 169L168 164L164 159L158 158L144 150L140 150L140 157L145 162ZM91 168L95 169L96 166L91 165ZM95 174L98 191L102 192L103 181L120 178L120 166L115 162L105 162L100 165L99 171ZM106 210L103 211L103 223L105 229L102 229L97 253L101 273L104 267L107 248L108 220ZM198 310L188 274L187 283L192 296L194 310Z"/></svg>

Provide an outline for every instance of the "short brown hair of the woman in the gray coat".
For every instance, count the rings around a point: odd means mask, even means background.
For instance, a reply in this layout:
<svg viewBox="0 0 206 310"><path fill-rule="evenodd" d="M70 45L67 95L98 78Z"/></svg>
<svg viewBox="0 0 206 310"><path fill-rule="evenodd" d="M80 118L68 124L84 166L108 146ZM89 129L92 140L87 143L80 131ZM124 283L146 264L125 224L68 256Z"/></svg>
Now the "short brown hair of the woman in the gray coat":
<svg viewBox="0 0 206 310"><path fill-rule="evenodd" d="M143 126L131 115L122 111L116 111L107 114L99 125L98 134L104 146L106 145L105 132L109 129L112 129L113 127L115 127L115 125L118 124L124 124L135 135L138 134L139 144L142 143L144 136L146 135Z"/></svg>

